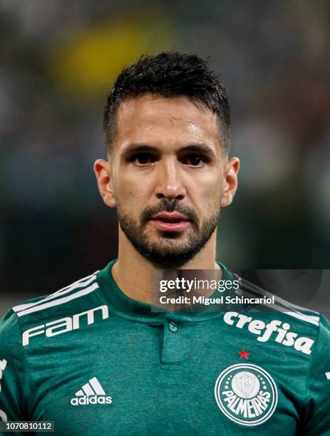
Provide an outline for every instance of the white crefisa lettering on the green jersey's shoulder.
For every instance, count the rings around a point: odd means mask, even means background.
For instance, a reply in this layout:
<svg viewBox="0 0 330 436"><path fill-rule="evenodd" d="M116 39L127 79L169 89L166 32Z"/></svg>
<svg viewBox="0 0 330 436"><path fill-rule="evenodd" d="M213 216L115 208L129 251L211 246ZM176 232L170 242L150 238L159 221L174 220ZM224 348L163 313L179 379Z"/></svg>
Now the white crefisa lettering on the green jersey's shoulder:
<svg viewBox="0 0 330 436"><path fill-rule="evenodd" d="M264 321L253 319L251 316L238 312L226 312L224 321L237 328L247 326L250 333L258 336L257 341L267 342L272 336L275 342L282 343L287 347L293 346L295 350L301 351L301 353L311 354L311 346L314 344L313 339L304 336L299 337L297 333L289 331L289 323L282 323L278 319L273 319L266 324ZM276 336L273 333L276 333Z"/></svg>

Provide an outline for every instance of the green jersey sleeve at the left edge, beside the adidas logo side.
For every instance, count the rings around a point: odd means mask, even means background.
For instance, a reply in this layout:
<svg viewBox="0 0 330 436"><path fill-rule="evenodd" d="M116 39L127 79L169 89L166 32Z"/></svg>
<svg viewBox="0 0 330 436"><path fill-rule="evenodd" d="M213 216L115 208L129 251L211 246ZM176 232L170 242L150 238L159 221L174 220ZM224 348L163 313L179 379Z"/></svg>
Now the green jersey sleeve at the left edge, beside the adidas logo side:
<svg viewBox="0 0 330 436"><path fill-rule="evenodd" d="M28 420L29 375L16 313L0 321L0 420Z"/></svg>

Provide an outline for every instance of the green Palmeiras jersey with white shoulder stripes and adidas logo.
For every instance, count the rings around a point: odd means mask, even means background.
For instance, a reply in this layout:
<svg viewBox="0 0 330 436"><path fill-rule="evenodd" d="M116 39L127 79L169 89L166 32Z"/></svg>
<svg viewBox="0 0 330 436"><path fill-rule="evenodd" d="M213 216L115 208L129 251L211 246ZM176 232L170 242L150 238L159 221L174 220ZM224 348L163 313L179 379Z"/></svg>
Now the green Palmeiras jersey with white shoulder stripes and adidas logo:
<svg viewBox="0 0 330 436"><path fill-rule="evenodd" d="M113 263L3 318L0 419L54 421L61 436L330 435L324 316L280 299L153 311Z"/></svg>

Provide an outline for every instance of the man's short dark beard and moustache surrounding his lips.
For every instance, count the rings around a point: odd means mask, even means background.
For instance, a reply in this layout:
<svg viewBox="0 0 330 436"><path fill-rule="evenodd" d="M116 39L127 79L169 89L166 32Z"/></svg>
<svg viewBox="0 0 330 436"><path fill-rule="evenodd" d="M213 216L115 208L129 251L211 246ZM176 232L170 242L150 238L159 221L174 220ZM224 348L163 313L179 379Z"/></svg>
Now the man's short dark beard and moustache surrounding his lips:
<svg viewBox="0 0 330 436"><path fill-rule="evenodd" d="M185 240L181 240L182 234L177 232L158 230L158 238L148 235L149 220L160 212L179 212L189 219L190 229L186 231ZM177 199L162 199L157 206L147 207L138 222L124 213L120 204L117 204L117 214L120 228L138 253L156 268L177 269L190 261L210 239L220 219L220 204L202 223L193 209L183 206Z"/></svg>

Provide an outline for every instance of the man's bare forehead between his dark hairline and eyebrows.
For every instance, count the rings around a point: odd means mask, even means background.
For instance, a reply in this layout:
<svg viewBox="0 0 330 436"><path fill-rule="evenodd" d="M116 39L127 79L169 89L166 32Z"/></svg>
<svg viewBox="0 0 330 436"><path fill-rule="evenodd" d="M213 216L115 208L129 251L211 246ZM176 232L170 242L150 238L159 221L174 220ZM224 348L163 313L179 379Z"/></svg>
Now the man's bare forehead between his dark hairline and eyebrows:
<svg viewBox="0 0 330 436"><path fill-rule="evenodd" d="M219 143L217 115L187 97L139 95L120 103L115 142L170 140Z"/></svg>

